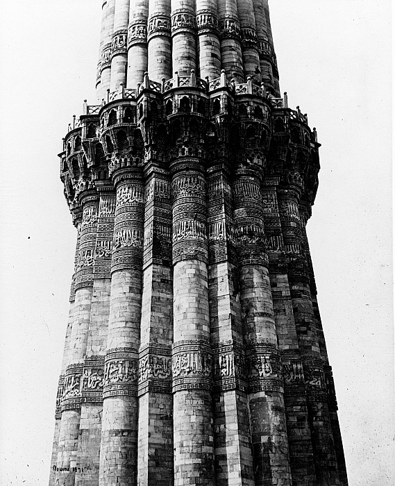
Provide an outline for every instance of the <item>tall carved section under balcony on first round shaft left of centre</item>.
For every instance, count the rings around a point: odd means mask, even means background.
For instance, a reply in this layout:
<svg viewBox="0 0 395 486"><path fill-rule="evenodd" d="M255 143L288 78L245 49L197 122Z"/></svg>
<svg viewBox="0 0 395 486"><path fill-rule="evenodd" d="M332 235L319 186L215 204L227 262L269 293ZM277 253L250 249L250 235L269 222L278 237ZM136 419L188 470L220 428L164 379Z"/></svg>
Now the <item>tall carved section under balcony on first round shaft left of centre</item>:
<svg viewBox="0 0 395 486"><path fill-rule="evenodd" d="M144 244L144 185L141 174L125 174L117 183L111 271L141 268ZM130 178L126 178L130 177Z"/></svg>

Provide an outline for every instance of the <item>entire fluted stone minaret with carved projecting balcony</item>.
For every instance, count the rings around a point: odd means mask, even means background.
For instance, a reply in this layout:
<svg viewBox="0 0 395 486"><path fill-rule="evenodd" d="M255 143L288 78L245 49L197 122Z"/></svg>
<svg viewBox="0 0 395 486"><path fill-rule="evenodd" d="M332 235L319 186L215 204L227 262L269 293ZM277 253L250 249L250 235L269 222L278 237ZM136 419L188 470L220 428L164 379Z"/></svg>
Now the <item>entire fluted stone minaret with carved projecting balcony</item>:
<svg viewBox="0 0 395 486"><path fill-rule="evenodd" d="M347 485L267 0L104 1L96 87L49 484Z"/></svg>

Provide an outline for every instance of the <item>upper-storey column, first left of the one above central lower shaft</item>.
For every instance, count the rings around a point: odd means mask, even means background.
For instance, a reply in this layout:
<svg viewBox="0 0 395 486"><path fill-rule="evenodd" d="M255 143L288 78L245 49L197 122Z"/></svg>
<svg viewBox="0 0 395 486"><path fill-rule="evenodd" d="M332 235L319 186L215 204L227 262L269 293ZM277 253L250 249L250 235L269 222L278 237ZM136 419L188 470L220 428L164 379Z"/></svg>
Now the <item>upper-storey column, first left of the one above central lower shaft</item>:
<svg viewBox="0 0 395 486"><path fill-rule="evenodd" d="M148 71L154 81L171 78L171 0L149 0Z"/></svg>

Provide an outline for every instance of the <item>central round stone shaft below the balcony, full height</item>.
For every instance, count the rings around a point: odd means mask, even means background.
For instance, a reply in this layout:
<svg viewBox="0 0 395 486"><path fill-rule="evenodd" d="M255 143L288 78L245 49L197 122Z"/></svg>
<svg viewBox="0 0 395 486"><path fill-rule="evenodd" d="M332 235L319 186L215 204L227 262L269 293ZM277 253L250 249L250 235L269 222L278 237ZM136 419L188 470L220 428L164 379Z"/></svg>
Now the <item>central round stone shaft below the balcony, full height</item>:
<svg viewBox="0 0 395 486"><path fill-rule="evenodd" d="M212 353L205 177L201 160L171 162L174 265L174 486L214 486Z"/></svg>

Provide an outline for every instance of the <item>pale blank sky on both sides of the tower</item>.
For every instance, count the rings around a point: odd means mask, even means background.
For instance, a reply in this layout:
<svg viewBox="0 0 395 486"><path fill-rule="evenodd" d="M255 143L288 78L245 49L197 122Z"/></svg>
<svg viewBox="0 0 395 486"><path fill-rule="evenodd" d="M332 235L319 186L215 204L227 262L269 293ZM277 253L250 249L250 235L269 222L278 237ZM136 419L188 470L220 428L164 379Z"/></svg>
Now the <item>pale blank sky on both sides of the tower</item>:
<svg viewBox="0 0 395 486"><path fill-rule="evenodd" d="M281 90L322 144L308 234L349 484L394 485L390 1L270 8ZM76 238L57 154L95 104L100 14L0 5L1 486L47 486Z"/></svg>

